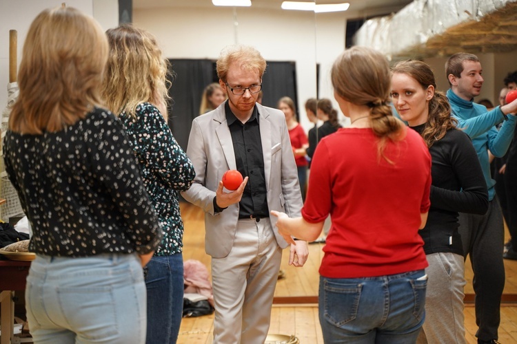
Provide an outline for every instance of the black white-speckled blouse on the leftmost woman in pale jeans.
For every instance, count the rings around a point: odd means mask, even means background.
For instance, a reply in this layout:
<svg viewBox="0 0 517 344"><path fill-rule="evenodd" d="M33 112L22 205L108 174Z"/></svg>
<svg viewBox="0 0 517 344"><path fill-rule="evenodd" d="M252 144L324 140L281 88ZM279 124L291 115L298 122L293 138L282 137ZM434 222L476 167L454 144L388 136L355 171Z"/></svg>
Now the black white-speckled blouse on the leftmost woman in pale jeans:
<svg viewBox="0 0 517 344"><path fill-rule="evenodd" d="M6 171L39 255L145 254L162 233L120 120L94 109L62 131L7 131Z"/></svg>

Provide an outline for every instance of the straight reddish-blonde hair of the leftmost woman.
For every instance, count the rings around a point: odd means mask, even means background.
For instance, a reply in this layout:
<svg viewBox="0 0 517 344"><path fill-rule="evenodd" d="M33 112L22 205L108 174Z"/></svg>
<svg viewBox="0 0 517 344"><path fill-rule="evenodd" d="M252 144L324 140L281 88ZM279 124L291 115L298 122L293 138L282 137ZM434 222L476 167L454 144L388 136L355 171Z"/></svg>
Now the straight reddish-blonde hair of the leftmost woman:
<svg viewBox="0 0 517 344"><path fill-rule="evenodd" d="M75 8L43 10L23 45L10 130L56 132L85 118L102 103L107 58L108 41L97 21Z"/></svg>

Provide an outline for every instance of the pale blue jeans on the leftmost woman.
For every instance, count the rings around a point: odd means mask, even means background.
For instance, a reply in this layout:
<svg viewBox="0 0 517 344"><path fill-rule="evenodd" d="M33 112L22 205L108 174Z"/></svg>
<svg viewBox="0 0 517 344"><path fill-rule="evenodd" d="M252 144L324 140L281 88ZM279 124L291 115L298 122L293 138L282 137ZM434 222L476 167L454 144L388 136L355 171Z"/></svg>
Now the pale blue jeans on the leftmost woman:
<svg viewBox="0 0 517 344"><path fill-rule="evenodd" d="M34 343L144 343L145 284L136 255L45 257L26 287Z"/></svg>

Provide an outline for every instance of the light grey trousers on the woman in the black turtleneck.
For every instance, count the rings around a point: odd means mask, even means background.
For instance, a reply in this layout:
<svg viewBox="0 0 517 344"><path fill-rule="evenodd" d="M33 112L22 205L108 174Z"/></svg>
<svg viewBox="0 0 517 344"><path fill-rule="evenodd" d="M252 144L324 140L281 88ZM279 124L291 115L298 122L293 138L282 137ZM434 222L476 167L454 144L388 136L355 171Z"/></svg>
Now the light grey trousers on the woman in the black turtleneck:
<svg viewBox="0 0 517 344"><path fill-rule="evenodd" d="M451 252L427 255L425 269L427 294L425 322L418 344L465 344L465 263L463 256Z"/></svg>

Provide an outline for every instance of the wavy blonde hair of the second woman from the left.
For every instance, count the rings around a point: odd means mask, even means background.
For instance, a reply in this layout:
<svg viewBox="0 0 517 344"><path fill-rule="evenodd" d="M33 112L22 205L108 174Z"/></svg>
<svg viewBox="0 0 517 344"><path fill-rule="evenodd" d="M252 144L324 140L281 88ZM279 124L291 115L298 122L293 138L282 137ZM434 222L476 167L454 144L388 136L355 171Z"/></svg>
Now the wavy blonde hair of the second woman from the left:
<svg viewBox="0 0 517 344"><path fill-rule="evenodd" d="M133 118L145 102L158 107L167 120L168 60L152 34L130 24L106 31L110 55L105 69L102 95L115 114Z"/></svg>

